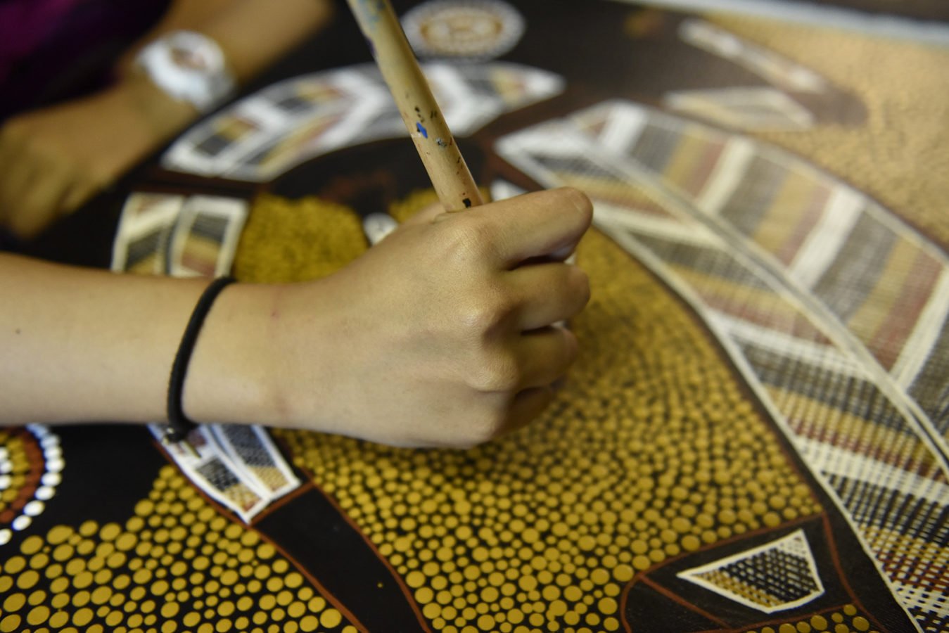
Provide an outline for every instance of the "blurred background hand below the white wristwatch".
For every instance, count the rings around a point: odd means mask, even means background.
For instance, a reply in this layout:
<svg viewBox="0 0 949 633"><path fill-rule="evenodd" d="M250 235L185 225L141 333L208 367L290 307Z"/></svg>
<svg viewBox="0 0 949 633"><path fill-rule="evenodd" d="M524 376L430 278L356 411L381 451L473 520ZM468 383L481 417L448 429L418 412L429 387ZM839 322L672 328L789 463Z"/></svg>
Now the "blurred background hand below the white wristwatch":
<svg viewBox="0 0 949 633"><path fill-rule="evenodd" d="M196 116L140 77L0 129L0 224L23 238L77 209Z"/></svg>

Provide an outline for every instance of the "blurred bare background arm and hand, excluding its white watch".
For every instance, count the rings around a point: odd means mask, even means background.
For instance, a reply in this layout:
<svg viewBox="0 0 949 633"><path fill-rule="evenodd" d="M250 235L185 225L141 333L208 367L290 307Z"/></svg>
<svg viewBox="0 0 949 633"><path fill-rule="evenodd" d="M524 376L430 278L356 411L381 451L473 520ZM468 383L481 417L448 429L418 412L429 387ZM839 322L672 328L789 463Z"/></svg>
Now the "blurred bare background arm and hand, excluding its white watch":
<svg viewBox="0 0 949 633"><path fill-rule="evenodd" d="M200 112L135 64L176 29L211 37L244 84L326 23L326 0L175 0L129 47L118 79L98 92L16 114L0 128L0 226L28 239L121 177Z"/></svg>

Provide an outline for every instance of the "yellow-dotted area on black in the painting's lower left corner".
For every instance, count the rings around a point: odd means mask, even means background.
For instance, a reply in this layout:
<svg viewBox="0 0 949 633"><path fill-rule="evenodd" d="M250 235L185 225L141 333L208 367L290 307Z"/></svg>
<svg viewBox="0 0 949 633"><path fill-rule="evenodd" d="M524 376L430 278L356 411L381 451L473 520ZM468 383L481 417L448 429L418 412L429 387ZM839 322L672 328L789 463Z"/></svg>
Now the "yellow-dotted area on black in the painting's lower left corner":
<svg viewBox="0 0 949 633"><path fill-rule="evenodd" d="M123 525L86 521L25 539L0 567L0 596L0 632L356 631L173 466Z"/></svg>

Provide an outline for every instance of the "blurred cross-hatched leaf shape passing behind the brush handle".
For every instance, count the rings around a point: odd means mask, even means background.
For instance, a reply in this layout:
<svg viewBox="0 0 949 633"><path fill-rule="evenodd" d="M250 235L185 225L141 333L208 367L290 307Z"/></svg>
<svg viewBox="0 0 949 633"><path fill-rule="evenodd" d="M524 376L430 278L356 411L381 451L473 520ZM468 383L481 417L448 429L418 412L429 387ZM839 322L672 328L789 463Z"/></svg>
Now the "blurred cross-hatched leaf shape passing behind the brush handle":
<svg viewBox="0 0 949 633"><path fill-rule="evenodd" d="M432 63L424 72L458 137L563 89L546 70L495 62ZM267 182L311 158L404 136L405 125L376 65L294 77L233 103L175 141L169 169Z"/></svg>

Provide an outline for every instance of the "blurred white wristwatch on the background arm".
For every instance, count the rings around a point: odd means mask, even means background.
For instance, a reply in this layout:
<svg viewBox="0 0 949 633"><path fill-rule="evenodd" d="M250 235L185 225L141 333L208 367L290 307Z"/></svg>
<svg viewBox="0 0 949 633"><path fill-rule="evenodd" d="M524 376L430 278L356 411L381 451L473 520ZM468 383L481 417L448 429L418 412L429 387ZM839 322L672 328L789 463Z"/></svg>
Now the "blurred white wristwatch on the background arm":
<svg viewBox="0 0 949 633"><path fill-rule="evenodd" d="M176 30L141 49L136 64L161 90L206 112L231 95L234 78L224 52L207 35Z"/></svg>

